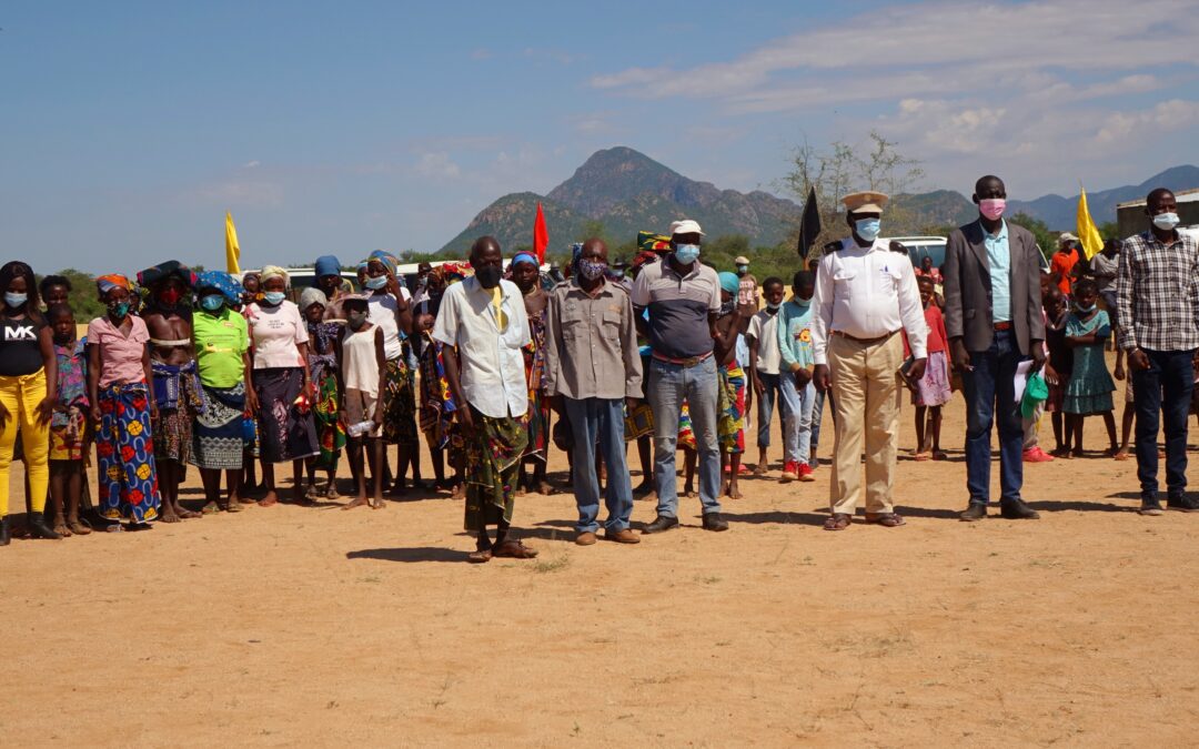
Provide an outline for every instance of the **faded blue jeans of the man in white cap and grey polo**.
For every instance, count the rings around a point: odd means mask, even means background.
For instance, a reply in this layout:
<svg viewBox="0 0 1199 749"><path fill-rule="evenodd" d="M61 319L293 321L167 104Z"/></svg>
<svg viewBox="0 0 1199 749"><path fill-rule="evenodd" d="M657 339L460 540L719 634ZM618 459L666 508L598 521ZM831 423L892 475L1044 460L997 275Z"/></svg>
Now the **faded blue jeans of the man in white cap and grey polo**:
<svg viewBox="0 0 1199 749"><path fill-rule="evenodd" d="M699 501L704 514L721 512L721 449L716 443L716 357L694 367L650 362L650 407L653 409L653 483L658 490L658 514L679 517L679 478L675 451L682 401L691 411L691 428L699 447Z"/></svg>

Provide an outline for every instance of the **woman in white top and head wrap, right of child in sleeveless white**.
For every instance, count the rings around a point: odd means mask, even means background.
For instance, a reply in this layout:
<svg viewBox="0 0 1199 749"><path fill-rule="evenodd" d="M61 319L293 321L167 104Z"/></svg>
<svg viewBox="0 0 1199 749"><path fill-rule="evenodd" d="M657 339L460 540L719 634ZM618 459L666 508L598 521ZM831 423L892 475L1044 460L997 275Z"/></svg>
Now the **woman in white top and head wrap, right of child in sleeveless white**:
<svg viewBox="0 0 1199 749"><path fill-rule="evenodd" d="M382 436L388 445L398 446L398 461L393 491L404 490L409 464L414 478L420 478L416 431L415 373L408 361L408 333L412 330L411 295L396 276L398 261L379 249L367 258L367 310L370 322L382 328L384 352L387 356L382 385ZM385 454L386 455L386 454ZM382 471L387 473L387 460Z"/></svg>

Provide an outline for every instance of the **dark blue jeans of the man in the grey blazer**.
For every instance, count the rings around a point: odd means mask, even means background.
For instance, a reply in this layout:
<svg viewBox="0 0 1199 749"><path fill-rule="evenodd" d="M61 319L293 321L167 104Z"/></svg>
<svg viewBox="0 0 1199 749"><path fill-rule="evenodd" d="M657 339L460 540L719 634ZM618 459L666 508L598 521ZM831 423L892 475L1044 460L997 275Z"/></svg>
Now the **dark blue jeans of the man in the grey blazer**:
<svg viewBox="0 0 1199 749"><path fill-rule="evenodd" d="M971 351L962 375L966 395L966 489L970 503L990 501L990 425L999 421L1000 501L1020 499L1024 425L1016 404L1016 366L1023 361L1012 331L995 331L990 349Z"/></svg>

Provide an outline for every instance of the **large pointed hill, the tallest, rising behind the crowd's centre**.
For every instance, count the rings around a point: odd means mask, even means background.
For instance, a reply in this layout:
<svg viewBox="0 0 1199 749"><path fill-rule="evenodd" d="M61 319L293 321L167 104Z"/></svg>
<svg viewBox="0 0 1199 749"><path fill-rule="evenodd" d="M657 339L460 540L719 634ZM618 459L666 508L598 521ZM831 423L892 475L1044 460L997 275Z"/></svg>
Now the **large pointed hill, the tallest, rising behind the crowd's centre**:
<svg viewBox="0 0 1199 749"><path fill-rule="evenodd" d="M710 237L740 234L749 237L752 247L775 246L800 215L800 206L790 200L763 191L718 189L619 146L591 155L544 198L504 195L480 211L442 250L469 248L474 237L488 232L504 246L530 243L537 200L555 247L578 237L588 221L602 222L608 236L625 241L640 230L665 231L679 218L694 218Z"/></svg>

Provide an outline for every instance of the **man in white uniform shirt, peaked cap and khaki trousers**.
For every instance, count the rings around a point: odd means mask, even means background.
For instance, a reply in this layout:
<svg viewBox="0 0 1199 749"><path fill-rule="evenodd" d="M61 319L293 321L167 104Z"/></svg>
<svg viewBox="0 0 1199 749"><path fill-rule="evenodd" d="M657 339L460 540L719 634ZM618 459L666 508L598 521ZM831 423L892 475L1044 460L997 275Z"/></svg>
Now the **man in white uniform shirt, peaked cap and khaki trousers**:
<svg viewBox="0 0 1199 749"><path fill-rule="evenodd" d="M908 253L892 252L878 238L886 201L887 195L876 192L842 198L852 236L825 255L817 271L813 380L821 391L832 389L837 417L826 531L849 527L857 507L863 437L866 521L904 525L891 497L899 441L896 373L904 364L899 328L908 332L914 357L906 374L920 380L928 326Z"/></svg>

